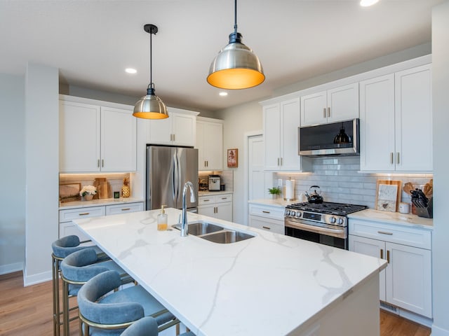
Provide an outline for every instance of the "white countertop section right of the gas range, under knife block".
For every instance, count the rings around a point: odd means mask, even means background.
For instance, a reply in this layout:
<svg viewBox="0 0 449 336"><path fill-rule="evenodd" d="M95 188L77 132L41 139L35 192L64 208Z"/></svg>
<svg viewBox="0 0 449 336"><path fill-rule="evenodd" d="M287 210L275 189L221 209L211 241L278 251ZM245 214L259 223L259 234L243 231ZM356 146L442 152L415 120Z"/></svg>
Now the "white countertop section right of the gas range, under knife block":
<svg viewBox="0 0 449 336"><path fill-rule="evenodd" d="M423 218L413 214L401 214L399 212L379 211L366 209L349 214L349 218L357 218L371 221L381 221L382 223L413 226L433 230L434 221L431 218Z"/></svg>

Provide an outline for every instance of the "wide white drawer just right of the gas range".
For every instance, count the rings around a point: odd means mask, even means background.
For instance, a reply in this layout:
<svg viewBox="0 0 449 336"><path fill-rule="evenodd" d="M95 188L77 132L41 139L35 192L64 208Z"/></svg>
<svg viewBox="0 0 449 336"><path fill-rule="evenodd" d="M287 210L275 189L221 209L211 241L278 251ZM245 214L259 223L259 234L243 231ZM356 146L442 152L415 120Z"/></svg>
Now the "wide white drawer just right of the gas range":
<svg viewBox="0 0 449 336"><path fill-rule="evenodd" d="M349 235L390 241L392 243L431 249L431 232L400 225L349 218Z"/></svg>

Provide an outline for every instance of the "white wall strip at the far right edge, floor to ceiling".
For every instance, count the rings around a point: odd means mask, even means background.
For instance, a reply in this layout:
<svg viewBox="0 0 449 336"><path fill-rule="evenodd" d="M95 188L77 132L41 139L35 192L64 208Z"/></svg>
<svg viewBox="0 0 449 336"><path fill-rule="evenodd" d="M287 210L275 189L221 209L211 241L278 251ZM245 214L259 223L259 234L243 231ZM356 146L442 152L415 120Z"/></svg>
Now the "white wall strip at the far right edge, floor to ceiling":
<svg viewBox="0 0 449 336"><path fill-rule="evenodd" d="M432 336L449 335L449 1L432 11L432 89L434 109L434 235Z"/></svg>

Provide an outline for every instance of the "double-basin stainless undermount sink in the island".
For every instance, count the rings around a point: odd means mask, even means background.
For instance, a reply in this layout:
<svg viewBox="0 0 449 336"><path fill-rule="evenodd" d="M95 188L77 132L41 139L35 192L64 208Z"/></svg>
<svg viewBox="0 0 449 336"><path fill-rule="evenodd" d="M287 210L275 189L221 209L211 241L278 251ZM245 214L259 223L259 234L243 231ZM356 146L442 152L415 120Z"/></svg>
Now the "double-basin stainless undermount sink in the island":
<svg viewBox="0 0 449 336"><path fill-rule="evenodd" d="M181 230L179 223L172 226L177 230ZM189 235L194 235L217 244L231 244L254 237L253 235L248 235L248 233L228 230L220 225L205 221L189 223Z"/></svg>

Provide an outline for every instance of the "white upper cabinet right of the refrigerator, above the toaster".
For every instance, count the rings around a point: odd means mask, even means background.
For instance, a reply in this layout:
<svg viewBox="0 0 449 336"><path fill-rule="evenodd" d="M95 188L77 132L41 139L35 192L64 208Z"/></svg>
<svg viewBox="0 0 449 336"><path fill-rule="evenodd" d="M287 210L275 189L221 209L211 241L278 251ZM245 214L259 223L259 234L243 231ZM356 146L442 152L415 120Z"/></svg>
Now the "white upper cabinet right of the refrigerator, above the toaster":
<svg viewBox="0 0 449 336"><path fill-rule="evenodd" d="M223 169L223 124L221 120L196 118L199 170Z"/></svg>

